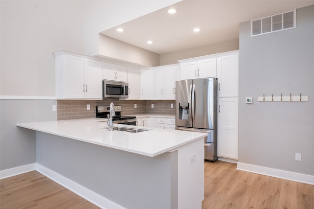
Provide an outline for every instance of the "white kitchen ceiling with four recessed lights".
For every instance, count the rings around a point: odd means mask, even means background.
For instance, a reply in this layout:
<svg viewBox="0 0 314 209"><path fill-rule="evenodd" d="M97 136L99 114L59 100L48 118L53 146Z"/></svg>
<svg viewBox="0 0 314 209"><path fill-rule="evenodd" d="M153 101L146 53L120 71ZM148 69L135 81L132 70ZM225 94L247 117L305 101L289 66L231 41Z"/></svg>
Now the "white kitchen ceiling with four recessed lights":
<svg viewBox="0 0 314 209"><path fill-rule="evenodd" d="M101 32L158 54L238 39L239 23L314 4L314 0L183 0ZM176 8L174 15L168 8ZM118 27L124 32L117 32ZM199 27L200 32L193 29ZM154 43L148 45L146 42Z"/></svg>

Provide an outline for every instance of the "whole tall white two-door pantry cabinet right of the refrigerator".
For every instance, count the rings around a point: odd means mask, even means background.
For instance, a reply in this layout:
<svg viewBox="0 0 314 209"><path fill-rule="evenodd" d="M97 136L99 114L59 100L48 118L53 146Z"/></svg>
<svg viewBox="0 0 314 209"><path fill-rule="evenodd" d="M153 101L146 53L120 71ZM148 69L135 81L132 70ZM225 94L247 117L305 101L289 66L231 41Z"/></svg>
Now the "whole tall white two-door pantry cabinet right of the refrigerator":
<svg viewBox="0 0 314 209"><path fill-rule="evenodd" d="M218 157L238 158L238 52L217 58Z"/></svg>

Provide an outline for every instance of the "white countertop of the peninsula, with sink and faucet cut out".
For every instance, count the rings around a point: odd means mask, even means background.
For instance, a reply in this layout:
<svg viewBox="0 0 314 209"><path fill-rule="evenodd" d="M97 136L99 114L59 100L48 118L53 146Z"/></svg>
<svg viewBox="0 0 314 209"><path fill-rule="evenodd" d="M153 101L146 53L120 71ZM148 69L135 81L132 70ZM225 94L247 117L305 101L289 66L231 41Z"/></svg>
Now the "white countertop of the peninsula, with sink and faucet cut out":
<svg viewBox="0 0 314 209"><path fill-rule="evenodd" d="M18 123L17 126L149 157L175 150L184 144L207 136L207 134L198 132L144 128L120 124L114 124L114 127L132 127L149 129L149 131L139 133L109 132L106 129L108 126L105 121L106 119L104 118L84 118Z"/></svg>

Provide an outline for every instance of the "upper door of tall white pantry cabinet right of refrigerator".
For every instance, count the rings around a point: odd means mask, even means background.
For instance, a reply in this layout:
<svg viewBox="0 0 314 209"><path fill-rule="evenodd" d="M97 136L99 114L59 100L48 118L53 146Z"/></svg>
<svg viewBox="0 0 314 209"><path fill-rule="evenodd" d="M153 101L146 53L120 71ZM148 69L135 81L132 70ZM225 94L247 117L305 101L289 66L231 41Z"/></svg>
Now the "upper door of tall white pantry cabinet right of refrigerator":
<svg viewBox="0 0 314 209"><path fill-rule="evenodd" d="M218 96L238 96L238 54L217 59Z"/></svg>

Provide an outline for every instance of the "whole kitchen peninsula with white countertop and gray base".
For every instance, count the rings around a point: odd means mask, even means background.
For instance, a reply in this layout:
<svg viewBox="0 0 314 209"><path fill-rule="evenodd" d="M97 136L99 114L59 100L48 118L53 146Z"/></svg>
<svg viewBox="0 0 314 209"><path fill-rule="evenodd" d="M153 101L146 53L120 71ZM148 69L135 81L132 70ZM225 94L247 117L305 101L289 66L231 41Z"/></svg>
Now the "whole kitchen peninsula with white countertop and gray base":
<svg viewBox="0 0 314 209"><path fill-rule="evenodd" d="M202 208L206 134L151 128L108 132L105 121L17 126L36 131L39 172L101 208Z"/></svg>

